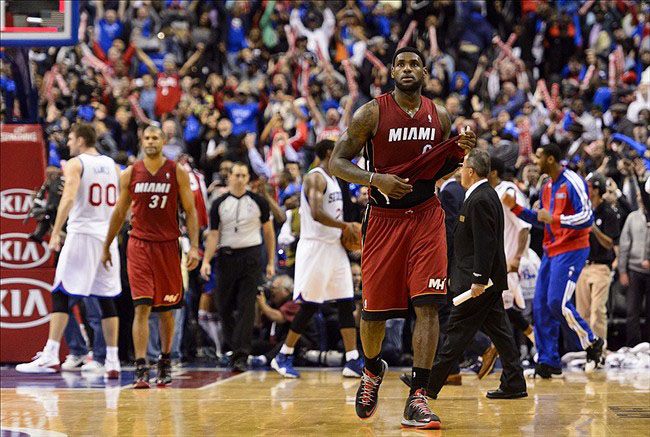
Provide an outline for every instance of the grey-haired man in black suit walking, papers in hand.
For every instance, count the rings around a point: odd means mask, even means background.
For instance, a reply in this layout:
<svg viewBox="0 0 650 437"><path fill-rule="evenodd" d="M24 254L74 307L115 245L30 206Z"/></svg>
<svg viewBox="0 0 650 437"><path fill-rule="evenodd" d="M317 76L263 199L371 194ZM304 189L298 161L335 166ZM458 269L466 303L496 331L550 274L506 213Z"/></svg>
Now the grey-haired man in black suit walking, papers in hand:
<svg viewBox="0 0 650 437"><path fill-rule="evenodd" d="M451 366L478 329L496 346L503 362L501 385L487 397L513 399L527 396L512 326L503 308L502 291L508 288L503 250L503 208L487 183L490 155L473 149L461 168L461 184L467 189L454 231L455 264L449 282L458 295L472 290L472 298L452 309L447 339L436 358L427 395L436 397ZM488 287L488 282L492 285Z"/></svg>

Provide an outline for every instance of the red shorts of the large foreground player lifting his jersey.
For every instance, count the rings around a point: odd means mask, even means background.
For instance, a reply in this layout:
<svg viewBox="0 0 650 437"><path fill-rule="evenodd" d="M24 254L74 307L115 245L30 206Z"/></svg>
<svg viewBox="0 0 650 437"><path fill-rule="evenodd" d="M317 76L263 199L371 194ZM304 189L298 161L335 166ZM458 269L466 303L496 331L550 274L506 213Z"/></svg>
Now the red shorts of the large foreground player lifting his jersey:
<svg viewBox="0 0 650 437"><path fill-rule="evenodd" d="M405 317L408 301L447 302L445 212L433 197L410 209L370 207L361 263L364 320Z"/></svg>

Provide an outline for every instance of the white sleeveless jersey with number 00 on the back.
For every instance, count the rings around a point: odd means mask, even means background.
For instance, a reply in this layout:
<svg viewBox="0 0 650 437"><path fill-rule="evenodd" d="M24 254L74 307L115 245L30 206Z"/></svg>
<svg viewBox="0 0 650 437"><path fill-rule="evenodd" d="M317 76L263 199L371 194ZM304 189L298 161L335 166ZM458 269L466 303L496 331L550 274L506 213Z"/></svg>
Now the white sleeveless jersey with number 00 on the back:
<svg viewBox="0 0 650 437"><path fill-rule="evenodd" d="M81 154L81 183L68 217L68 232L106 238L117 203L119 176L115 161L104 155Z"/></svg>

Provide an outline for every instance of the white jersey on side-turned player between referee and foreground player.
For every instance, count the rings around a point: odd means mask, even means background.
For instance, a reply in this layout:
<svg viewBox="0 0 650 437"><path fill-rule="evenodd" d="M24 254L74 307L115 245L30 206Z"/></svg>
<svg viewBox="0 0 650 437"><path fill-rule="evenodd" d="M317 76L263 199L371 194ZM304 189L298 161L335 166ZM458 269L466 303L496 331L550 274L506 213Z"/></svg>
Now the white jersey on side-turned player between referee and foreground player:
<svg viewBox="0 0 650 437"><path fill-rule="evenodd" d="M311 173L320 173L327 181L327 188L323 193L323 209L336 220L343 220L343 194L339 183L328 175L321 167L316 167ZM341 239L341 229L324 226L318 223L311 215L311 206L305 192L305 185L300 192L300 239L321 240L334 243Z"/></svg>

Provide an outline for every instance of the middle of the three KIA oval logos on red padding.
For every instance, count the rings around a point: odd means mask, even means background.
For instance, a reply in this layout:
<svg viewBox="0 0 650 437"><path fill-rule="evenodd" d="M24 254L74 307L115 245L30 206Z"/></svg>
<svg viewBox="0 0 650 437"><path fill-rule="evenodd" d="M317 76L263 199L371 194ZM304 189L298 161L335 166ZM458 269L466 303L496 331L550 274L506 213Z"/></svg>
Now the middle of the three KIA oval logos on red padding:
<svg viewBox="0 0 650 437"><path fill-rule="evenodd" d="M47 243L37 243L19 232L0 235L0 267L31 269L50 258Z"/></svg>

